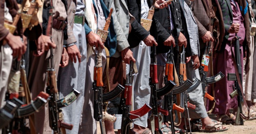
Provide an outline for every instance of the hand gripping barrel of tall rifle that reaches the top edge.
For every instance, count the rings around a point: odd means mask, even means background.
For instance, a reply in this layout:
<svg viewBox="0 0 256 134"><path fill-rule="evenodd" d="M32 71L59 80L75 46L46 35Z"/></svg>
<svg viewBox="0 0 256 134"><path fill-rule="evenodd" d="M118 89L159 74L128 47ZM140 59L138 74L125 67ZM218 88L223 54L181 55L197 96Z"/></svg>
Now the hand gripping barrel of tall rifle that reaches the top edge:
<svg viewBox="0 0 256 134"><path fill-rule="evenodd" d="M41 35L37 40L35 40L35 44L37 44L37 51L33 52L34 56L41 56L44 51L48 51L50 47L56 48L56 44L51 41L50 36Z"/></svg>

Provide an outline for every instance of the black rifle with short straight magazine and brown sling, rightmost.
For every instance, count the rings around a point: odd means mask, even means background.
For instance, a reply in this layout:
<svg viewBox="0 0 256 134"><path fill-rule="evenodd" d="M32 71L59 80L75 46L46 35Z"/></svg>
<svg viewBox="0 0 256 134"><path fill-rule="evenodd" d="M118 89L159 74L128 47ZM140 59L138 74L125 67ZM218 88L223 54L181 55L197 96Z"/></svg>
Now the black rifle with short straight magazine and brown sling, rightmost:
<svg viewBox="0 0 256 134"><path fill-rule="evenodd" d="M237 103L238 103L238 108L237 108L237 115L236 115L236 121L235 125L243 125L243 119L245 119L243 112L242 112L242 104L244 102L244 94L243 94L243 87L242 87L242 66L241 66L241 57L240 57L240 43L239 43L239 36L234 37L234 52L231 48L231 53L232 53L232 58L234 61L234 68L235 68L235 73L228 73L228 81L234 81L233 84L233 89L234 91L229 94L231 98L234 98L237 96ZM247 106L247 103L244 102L244 105L246 106L248 110L248 116L247 119L250 118L250 108ZM239 117L239 118L238 118Z"/></svg>

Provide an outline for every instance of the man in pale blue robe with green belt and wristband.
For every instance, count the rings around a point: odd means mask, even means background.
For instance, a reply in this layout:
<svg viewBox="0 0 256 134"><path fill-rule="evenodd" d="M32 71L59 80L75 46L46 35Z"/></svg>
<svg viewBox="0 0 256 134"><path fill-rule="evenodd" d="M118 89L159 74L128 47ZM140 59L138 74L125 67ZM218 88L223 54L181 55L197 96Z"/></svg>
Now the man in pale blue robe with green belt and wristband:
<svg viewBox="0 0 256 134"><path fill-rule="evenodd" d="M73 124L67 133L77 134L84 104L85 76L87 63L87 45L84 30L83 0L68 0L68 39L64 47L69 55L69 65L60 68L58 74L58 89L60 98L68 95L72 89L80 92L79 97L69 106L62 108L66 123ZM76 12L74 10L76 9ZM88 84L88 83L87 83Z"/></svg>

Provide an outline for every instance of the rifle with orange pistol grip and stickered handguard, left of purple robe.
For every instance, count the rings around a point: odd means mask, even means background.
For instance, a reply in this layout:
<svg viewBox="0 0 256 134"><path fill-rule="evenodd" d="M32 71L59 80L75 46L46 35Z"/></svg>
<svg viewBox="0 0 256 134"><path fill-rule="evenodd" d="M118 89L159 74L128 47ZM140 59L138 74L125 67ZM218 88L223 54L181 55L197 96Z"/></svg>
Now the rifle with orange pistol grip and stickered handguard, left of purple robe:
<svg viewBox="0 0 256 134"><path fill-rule="evenodd" d="M199 68L199 73L202 81L202 89L203 89L203 97L209 99L210 101L214 100L214 97L209 95L207 91L205 91L205 87L208 87L209 84L215 83L219 80L221 80L224 77L224 74L222 72L219 72L213 77L207 77L207 72L208 72L208 64L210 61L210 56L211 56L211 43L212 41L209 41L208 46L205 48L203 56L202 56L202 61L201 61L201 66Z"/></svg>

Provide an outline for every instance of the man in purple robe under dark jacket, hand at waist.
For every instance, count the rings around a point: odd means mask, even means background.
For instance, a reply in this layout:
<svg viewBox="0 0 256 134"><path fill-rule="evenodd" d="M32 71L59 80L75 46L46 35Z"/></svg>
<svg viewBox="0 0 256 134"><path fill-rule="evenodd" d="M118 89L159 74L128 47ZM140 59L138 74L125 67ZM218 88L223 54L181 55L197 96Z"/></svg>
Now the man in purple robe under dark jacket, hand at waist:
<svg viewBox="0 0 256 134"><path fill-rule="evenodd" d="M237 108L237 97L233 99L230 98L229 94L233 91L233 81L227 80L228 73L235 73L231 51L234 51L234 44L231 44L232 39L235 34L240 38L240 52L241 52L241 64L243 68L243 46L247 47L250 45L250 28L248 20L248 10L246 9L246 1L237 0L218 0L221 6L225 36L223 38L222 47L216 55L213 65L216 68L215 72L223 72L224 78L215 83L214 91L215 93L215 108L213 110L214 114L218 114L218 117L229 116L226 120L221 120L225 123L234 123L235 118L230 118L229 109ZM240 10L240 6L242 7ZM248 48L248 47L247 47ZM248 49L247 56L250 55ZM239 117L237 117L239 118Z"/></svg>

